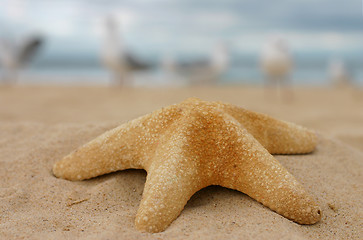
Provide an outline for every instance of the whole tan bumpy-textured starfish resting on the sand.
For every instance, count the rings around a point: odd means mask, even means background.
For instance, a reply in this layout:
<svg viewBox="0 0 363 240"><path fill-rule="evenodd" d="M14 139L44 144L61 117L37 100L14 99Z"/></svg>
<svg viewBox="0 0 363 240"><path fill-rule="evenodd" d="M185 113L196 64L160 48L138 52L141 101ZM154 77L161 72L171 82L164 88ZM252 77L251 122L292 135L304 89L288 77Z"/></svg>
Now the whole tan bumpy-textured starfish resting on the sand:
<svg viewBox="0 0 363 240"><path fill-rule="evenodd" d="M314 132L230 104L196 98L114 128L53 167L55 176L83 180L134 168L147 171L135 224L165 230L190 197L209 185L241 191L300 224L320 208L271 155L314 150Z"/></svg>

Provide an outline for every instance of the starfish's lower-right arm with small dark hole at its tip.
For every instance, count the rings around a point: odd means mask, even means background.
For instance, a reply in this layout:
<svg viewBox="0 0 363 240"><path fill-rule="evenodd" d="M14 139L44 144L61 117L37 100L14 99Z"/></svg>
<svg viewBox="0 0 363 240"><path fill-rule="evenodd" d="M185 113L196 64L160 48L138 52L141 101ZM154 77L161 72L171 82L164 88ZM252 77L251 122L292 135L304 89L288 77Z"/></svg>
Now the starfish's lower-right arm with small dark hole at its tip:
<svg viewBox="0 0 363 240"><path fill-rule="evenodd" d="M243 139L233 164L226 164L220 185L246 193L300 224L314 224L320 208L302 185L251 135Z"/></svg>

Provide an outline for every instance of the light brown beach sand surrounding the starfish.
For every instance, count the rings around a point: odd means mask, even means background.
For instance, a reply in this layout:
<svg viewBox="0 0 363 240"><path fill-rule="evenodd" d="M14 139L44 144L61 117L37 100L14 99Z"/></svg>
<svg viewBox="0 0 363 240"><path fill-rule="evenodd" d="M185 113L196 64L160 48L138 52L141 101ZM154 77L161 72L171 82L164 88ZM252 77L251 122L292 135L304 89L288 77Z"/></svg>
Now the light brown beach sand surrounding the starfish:
<svg viewBox="0 0 363 240"><path fill-rule="evenodd" d="M362 239L363 92L299 88L292 102L254 87L109 89L0 88L0 239ZM165 232L140 233L134 218L146 172L70 182L54 162L118 124L196 96L221 100L319 132L312 154L276 158L323 212L304 226L247 195L197 192Z"/></svg>

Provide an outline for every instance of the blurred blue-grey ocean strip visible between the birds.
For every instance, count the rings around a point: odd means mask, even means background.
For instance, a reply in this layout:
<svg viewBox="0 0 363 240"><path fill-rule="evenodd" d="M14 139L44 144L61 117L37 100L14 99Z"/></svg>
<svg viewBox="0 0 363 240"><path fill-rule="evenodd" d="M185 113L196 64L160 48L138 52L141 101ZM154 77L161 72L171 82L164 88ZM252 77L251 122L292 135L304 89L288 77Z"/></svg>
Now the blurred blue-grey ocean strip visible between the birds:
<svg viewBox="0 0 363 240"><path fill-rule="evenodd" d="M345 61L350 82L363 86L363 58ZM134 72L134 86L162 87L193 84L190 75L165 72L157 64L152 70ZM4 70L0 68L0 76ZM76 84L108 85L112 74L97 61L90 64L46 64L33 65L21 70L18 82L22 84ZM329 76L329 62L326 58L295 59L294 69L289 80L294 85L327 86L332 84ZM221 74L218 85L262 85L264 75L258 65L257 57L234 58L228 69Z"/></svg>

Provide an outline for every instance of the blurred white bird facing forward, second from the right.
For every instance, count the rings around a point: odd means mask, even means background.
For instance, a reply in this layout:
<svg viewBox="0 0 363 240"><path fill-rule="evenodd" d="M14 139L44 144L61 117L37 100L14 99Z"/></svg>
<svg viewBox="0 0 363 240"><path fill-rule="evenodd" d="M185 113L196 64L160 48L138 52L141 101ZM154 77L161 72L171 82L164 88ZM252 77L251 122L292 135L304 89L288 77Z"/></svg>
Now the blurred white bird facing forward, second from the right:
<svg viewBox="0 0 363 240"><path fill-rule="evenodd" d="M291 98L292 93L287 89L287 85L293 61L287 42L281 37L271 38L262 51L260 63L266 76L266 85L284 87L286 97Z"/></svg>

